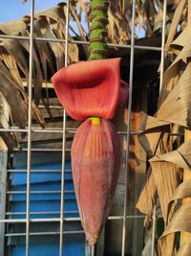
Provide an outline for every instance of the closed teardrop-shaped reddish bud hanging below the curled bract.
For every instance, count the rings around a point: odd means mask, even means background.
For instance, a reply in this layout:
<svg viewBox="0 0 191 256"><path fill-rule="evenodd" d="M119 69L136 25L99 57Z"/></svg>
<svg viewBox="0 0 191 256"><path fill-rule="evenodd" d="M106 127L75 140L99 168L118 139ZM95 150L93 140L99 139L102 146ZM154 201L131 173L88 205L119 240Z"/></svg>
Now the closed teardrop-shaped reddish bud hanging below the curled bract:
<svg viewBox="0 0 191 256"><path fill-rule="evenodd" d="M74 190L89 244L96 244L117 187L120 144L107 120L86 120L76 131L72 146Z"/></svg>

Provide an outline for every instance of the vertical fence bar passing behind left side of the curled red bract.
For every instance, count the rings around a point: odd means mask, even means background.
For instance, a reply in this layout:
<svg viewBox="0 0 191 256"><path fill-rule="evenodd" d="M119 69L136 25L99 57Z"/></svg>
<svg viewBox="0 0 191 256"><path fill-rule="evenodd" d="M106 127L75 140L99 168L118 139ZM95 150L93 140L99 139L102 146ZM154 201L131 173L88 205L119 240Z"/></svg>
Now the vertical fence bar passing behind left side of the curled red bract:
<svg viewBox="0 0 191 256"><path fill-rule="evenodd" d="M69 52L69 18L70 18L70 0L67 1L66 27L65 27L65 67L68 66ZM61 172L61 201L60 201L60 241L59 256L63 256L63 231L64 231L64 187L65 187L65 151L66 151L66 110L63 110L63 139L62 139L62 172Z"/></svg>

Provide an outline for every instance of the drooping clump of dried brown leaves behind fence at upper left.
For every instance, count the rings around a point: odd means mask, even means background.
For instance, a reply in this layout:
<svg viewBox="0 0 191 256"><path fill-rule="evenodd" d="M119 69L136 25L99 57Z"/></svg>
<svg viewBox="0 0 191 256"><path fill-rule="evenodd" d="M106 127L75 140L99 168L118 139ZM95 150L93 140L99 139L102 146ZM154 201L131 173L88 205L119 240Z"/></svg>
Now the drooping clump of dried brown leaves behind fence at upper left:
<svg viewBox="0 0 191 256"><path fill-rule="evenodd" d="M45 12L38 12L34 14L34 37L48 37L48 38L65 38L65 13L66 5L59 4L55 8ZM22 20L9 22L6 24L0 24L0 33L5 35L23 35L29 36L30 31L30 16L25 16ZM71 37L69 37L71 39ZM42 81L50 79L53 73L63 67L64 65L64 51L65 47L63 43L54 42L41 42L34 40L33 49L33 87L34 87L34 100L38 104L41 98L41 86ZM29 53L30 44L28 40L9 40L4 39L0 43L0 59L1 73L4 74L4 79L0 81L1 90L4 90L4 95L9 97L8 102L11 104L11 112L16 112L16 109L21 107L19 111L17 109L17 115L12 114L15 124L25 127L27 120L27 105L28 96L23 87L23 79L29 79ZM69 44L69 61L74 62L78 60L78 48L75 44ZM57 68L55 69L56 63ZM7 67L7 68L6 68ZM52 74L48 74L51 70ZM3 76L3 75L2 75ZM8 81L7 81L8 80ZM10 84L9 86L2 85ZM14 100L11 99L10 91L6 92L6 88L13 86L15 89ZM12 91L12 93L14 92ZM17 90L17 92L16 92ZM14 94L14 93L13 93ZM21 98L20 98L21 97ZM13 103L18 102L20 104L13 107ZM47 103L49 100L47 100ZM44 102L45 103L45 102ZM49 106L45 103L46 107ZM15 104L14 104L15 105ZM25 109L25 111L23 110ZM39 109L32 103L33 116L38 120L42 127L45 127L43 116Z"/></svg>

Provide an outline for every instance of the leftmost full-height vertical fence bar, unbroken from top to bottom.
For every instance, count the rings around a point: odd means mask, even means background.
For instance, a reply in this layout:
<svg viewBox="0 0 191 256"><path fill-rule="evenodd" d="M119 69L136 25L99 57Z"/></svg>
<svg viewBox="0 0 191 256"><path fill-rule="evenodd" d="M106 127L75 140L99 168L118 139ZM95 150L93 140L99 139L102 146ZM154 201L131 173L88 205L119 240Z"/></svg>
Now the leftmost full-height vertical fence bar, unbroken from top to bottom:
<svg viewBox="0 0 191 256"><path fill-rule="evenodd" d="M32 156L32 67L33 67L33 15L34 0L31 0L30 26L30 68L29 68L29 111L28 111L28 152L27 152L27 201L26 201L26 256L30 250L30 190L31 190L31 156Z"/></svg>

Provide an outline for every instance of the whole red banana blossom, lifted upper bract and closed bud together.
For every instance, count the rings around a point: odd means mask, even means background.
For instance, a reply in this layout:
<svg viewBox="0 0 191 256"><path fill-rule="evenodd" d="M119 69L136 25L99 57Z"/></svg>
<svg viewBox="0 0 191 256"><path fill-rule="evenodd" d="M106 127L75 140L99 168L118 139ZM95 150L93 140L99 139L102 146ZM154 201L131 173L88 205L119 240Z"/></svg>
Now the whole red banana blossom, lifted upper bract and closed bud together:
<svg viewBox="0 0 191 256"><path fill-rule="evenodd" d="M81 61L54 74L56 95L78 121L72 145L74 190L86 238L96 244L106 221L120 170L121 148L112 119L128 97L120 58Z"/></svg>

